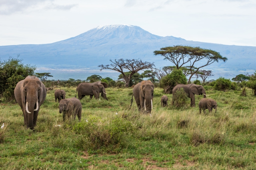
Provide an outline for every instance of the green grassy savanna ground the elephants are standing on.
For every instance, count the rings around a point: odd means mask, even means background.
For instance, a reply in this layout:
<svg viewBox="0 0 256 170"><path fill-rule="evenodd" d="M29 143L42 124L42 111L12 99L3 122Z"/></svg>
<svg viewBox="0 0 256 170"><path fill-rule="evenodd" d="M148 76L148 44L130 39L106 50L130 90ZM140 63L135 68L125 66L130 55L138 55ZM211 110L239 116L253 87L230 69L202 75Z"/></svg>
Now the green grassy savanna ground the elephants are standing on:
<svg viewBox="0 0 256 170"><path fill-rule="evenodd" d="M66 97L76 88L63 88ZM256 100L250 90L206 90L217 113L176 110L155 88L152 117L129 108L132 89L106 89L108 99L81 100L82 121L63 122L54 90L40 107L35 131L18 104L1 103L0 169L255 169ZM202 96L196 95L196 105ZM116 115L116 112L118 115ZM85 120L88 120L86 122ZM61 127L54 127L61 125Z"/></svg>

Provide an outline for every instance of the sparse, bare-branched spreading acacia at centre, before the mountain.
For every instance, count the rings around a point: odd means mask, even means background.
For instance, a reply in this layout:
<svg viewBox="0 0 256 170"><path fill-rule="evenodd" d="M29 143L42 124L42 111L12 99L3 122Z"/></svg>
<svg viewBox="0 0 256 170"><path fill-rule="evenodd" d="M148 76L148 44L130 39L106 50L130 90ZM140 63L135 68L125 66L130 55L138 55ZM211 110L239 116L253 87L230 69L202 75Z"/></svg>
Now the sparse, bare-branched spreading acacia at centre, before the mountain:
<svg viewBox="0 0 256 170"><path fill-rule="evenodd" d="M134 73L137 73L140 70L153 68L153 66L155 66L154 63L149 63L147 61L142 62L141 59L130 60L130 59L121 58L119 60L115 59L115 61L112 61L110 59L110 61L112 62L112 64L110 65L106 65L106 66L100 65L99 66L101 67L100 71L102 71L103 69L110 69L110 70L115 70L122 73L125 80L125 87L129 86L130 79ZM129 75L126 75L125 70L128 70L131 73Z"/></svg>

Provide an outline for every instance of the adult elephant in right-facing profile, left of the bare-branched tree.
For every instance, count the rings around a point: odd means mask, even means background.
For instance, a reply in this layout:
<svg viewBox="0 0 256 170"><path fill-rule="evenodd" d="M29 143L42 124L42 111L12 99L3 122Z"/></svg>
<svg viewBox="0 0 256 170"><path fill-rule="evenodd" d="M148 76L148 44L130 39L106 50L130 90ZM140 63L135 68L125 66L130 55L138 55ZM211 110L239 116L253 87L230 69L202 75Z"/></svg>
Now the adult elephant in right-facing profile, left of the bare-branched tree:
<svg viewBox="0 0 256 170"><path fill-rule="evenodd" d="M100 93L101 93L101 97L108 100L106 95L107 93L105 90L105 88L107 87L108 87L108 84L101 81L97 81L94 83L82 82L78 84L76 88L76 92L79 100L81 100L84 96L87 96L87 95L90 95L90 98L92 98L94 95L94 97L98 99L100 97Z"/></svg>

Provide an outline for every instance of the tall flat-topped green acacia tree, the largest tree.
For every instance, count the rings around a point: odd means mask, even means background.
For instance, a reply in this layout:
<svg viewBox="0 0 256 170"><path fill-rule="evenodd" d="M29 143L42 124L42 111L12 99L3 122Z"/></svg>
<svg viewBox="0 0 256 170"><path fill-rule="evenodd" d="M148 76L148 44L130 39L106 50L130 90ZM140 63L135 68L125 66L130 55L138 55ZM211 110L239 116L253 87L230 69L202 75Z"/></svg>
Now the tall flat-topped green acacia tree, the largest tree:
<svg viewBox="0 0 256 170"><path fill-rule="evenodd" d="M222 57L219 52L213 50L182 45L164 47L160 50L154 51L154 54L162 55L165 60L171 61L177 69L180 69L182 66L189 65L186 66L190 72L188 83L190 82L192 76L197 73L200 68L209 66L210 64L219 62L220 60L224 62L228 60L228 58ZM197 69L193 70L198 61L201 61L200 63L203 64L198 66Z"/></svg>

